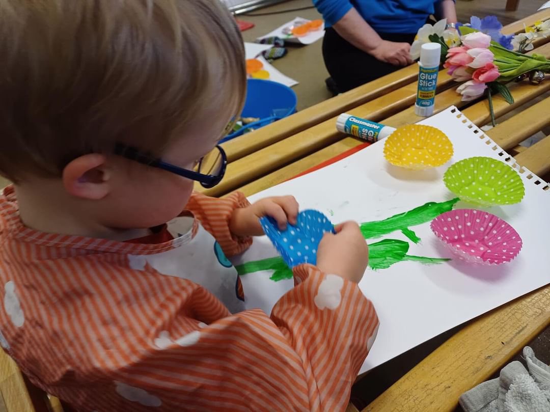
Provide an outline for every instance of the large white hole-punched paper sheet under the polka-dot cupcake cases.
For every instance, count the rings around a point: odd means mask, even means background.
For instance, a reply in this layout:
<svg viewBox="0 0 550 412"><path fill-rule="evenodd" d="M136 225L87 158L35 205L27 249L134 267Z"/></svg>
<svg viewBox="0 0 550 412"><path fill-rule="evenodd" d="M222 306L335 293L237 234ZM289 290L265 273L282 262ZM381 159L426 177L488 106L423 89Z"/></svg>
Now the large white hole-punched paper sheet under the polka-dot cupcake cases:
<svg viewBox="0 0 550 412"><path fill-rule="evenodd" d="M498 154L502 150L455 107L420 123L437 127L449 136L454 146L449 163L427 171L393 167L384 159L382 140L330 166L250 196L250 201L292 194L301 210L320 210L333 223L348 219L376 221L428 201L453 199L455 196L445 188L442 179L451 163L471 156L503 160ZM513 163L512 159L510 166ZM527 179L530 175L531 179ZM405 261L384 270L367 269L359 287L374 303L380 328L361 372L550 283L547 259L550 190L542 189L544 183L536 185L541 179L528 170L520 176L525 183L525 198L520 204L483 208L510 223L521 235L523 248L512 262L478 266L456 259L440 265ZM472 206L459 202L456 207ZM429 222L411 229L422 242L411 243L409 255L453 257L433 235ZM384 238L408 241L394 232L369 242ZM235 264L277 255L266 237L256 238L251 248L235 259ZM260 307L270 314L277 300L293 287L292 280L271 281L271 274L262 271L241 276L248 309Z"/></svg>

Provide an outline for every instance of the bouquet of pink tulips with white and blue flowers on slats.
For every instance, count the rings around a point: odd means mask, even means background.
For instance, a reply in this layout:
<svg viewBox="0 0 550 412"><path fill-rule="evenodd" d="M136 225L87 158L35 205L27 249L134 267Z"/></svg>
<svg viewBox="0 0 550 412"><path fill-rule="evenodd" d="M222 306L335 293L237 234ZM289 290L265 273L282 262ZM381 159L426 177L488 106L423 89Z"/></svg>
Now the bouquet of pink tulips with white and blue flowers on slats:
<svg viewBox="0 0 550 412"><path fill-rule="evenodd" d="M465 82L456 89L463 101L471 101L486 91L499 92L509 103L514 99L506 86L521 76L530 75L531 81L540 83L544 73L550 72L550 60L541 54L523 54L532 50L533 40L550 35L550 20L538 21L527 27L525 33L505 36L502 24L494 16L484 19L472 17L470 23L446 29L447 20L433 26L424 25L411 46L411 57L420 57L423 43L441 44L441 62L454 80ZM491 110L491 114L492 110Z"/></svg>

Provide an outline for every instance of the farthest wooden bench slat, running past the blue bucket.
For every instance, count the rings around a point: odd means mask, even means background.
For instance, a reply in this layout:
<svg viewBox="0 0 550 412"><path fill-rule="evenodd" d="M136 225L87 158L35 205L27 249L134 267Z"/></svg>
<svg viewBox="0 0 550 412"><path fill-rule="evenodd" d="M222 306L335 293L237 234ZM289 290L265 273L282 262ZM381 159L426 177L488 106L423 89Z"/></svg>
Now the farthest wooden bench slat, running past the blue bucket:
<svg viewBox="0 0 550 412"><path fill-rule="evenodd" d="M514 34L524 31L525 25L532 25L538 20L550 19L550 11L542 10L525 19L504 26L504 34ZM537 40L538 43L546 41ZM410 84L417 78L418 70L416 65L410 65L397 72L383 76L380 79L371 81L365 85L359 86L342 95L333 97L318 105L304 109L301 112L293 114L286 119L268 125L249 134L240 136L223 144L228 155L229 162L233 162L243 156L254 153L275 142L281 141L290 135L299 133L302 130L311 128L324 120L338 116L340 113L349 111L351 108L362 105L379 96L387 94L390 91L397 90L406 84ZM441 75L441 74L440 74ZM416 92L416 90L415 90Z"/></svg>

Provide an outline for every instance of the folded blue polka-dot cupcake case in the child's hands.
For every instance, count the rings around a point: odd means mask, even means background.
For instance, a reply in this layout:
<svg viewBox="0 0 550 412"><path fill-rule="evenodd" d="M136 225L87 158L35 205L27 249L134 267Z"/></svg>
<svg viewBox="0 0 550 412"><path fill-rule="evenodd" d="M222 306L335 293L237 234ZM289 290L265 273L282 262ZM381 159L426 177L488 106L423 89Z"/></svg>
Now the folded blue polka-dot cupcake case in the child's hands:
<svg viewBox="0 0 550 412"><path fill-rule="evenodd" d="M288 224L286 230L279 230L277 222L271 217L262 217L260 224L289 267L301 263L315 265L317 246L324 233L334 232L334 226L328 217L316 210L298 213L296 226Z"/></svg>

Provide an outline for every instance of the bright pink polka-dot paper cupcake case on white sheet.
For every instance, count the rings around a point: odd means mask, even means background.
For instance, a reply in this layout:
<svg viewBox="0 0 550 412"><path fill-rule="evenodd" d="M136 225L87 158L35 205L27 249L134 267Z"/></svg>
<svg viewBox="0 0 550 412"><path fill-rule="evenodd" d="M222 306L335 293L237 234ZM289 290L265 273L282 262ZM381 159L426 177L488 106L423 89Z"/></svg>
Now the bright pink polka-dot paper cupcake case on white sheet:
<svg viewBox="0 0 550 412"><path fill-rule="evenodd" d="M518 256L522 240L508 223L491 213L457 209L433 219L432 232L460 259L500 265Z"/></svg>

